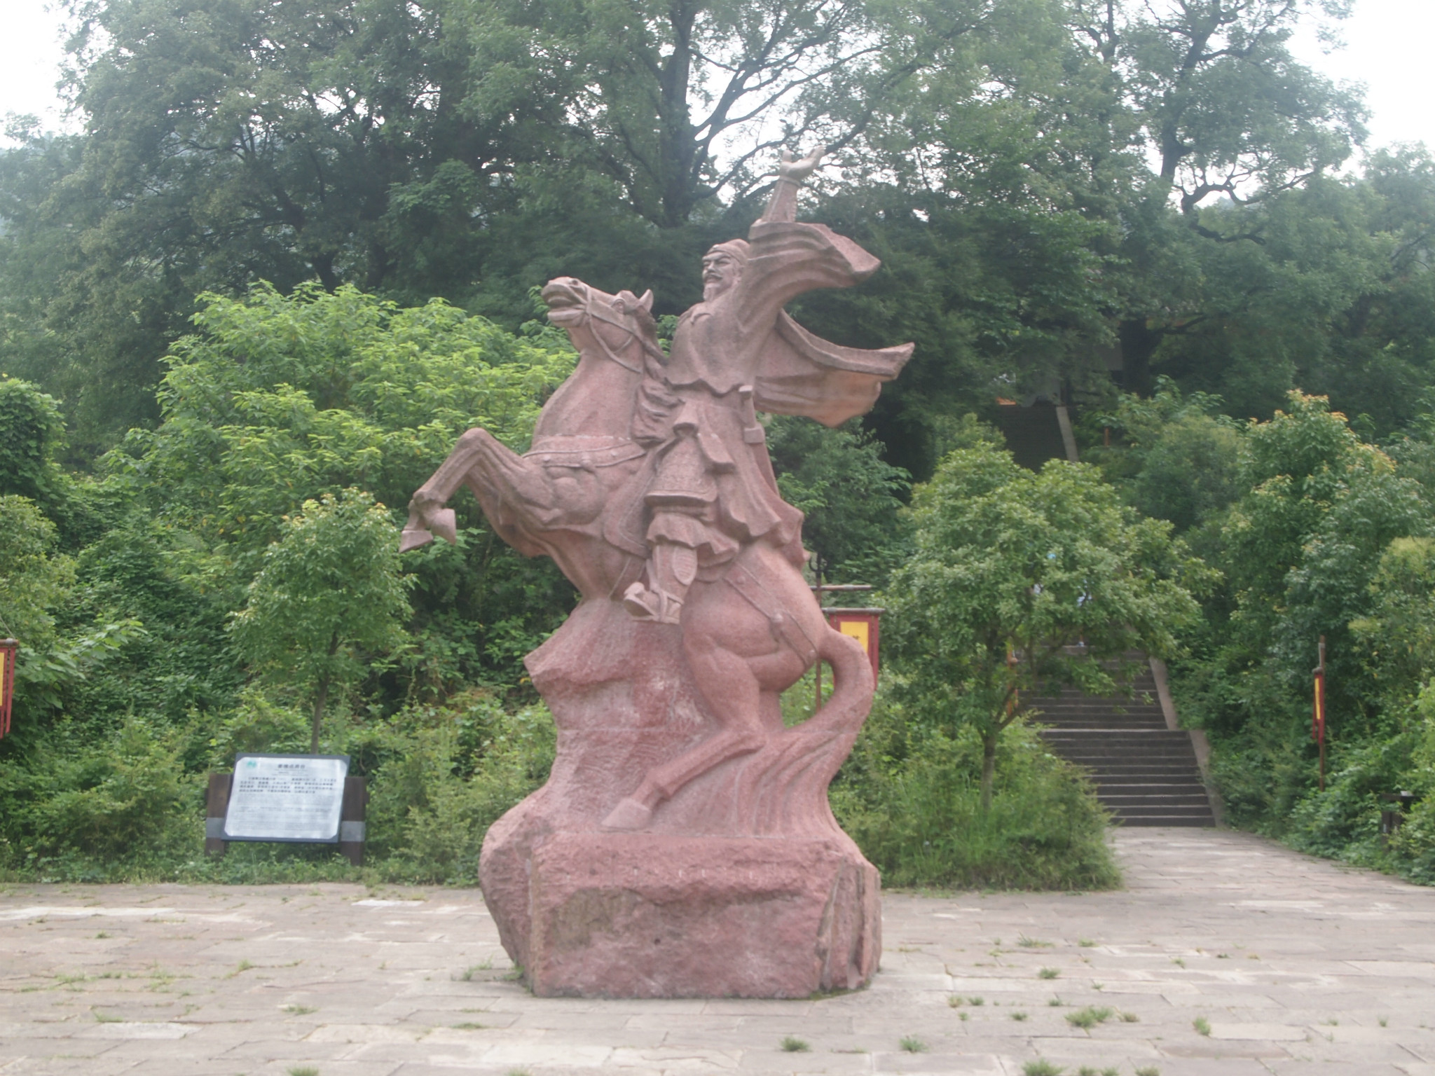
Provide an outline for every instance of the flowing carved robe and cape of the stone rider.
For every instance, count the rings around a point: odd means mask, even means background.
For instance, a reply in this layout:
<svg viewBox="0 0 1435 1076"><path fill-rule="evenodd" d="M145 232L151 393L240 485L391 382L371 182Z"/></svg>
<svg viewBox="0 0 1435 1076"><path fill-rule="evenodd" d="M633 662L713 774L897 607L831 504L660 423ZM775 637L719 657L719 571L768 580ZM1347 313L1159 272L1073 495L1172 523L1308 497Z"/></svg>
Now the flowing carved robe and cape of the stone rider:
<svg viewBox="0 0 1435 1076"><path fill-rule="evenodd" d="M755 410L837 426L870 409L911 354L911 344L839 347L784 313L805 291L875 273L881 263L855 242L821 224L772 221L753 224L748 241L738 281L679 318L662 377L640 389L633 438L653 449L604 528L637 555L676 542L710 571L763 539L801 564L802 514L778 492Z"/></svg>

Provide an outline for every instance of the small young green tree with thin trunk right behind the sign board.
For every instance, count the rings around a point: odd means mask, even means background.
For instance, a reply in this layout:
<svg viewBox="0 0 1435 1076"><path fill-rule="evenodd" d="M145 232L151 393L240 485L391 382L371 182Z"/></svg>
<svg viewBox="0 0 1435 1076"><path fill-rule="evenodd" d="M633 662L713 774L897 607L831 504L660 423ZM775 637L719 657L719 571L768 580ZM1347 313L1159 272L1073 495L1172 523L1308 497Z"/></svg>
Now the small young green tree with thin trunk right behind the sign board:
<svg viewBox="0 0 1435 1076"><path fill-rule="evenodd" d="M313 706L310 752L330 689L369 669L364 654L403 646L409 615L399 571L399 531L383 505L356 489L306 501L284 521L280 539L234 614L240 653L257 671L296 684Z"/></svg>

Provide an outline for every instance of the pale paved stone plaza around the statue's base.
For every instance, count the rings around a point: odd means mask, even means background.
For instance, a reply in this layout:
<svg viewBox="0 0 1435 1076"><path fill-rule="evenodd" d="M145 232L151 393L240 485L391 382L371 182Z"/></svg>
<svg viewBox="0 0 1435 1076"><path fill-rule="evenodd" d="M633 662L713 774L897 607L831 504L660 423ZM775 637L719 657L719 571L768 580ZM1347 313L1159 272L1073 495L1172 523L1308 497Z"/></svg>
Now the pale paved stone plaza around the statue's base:
<svg viewBox="0 0 1435 1076"><path fill-rule="evenodd" d="M1435 1076L1435 889L1114 841L1124 892L888 894L872 987L806 1001L535 999L471 889L4 887L0 1073Z"/></svg>

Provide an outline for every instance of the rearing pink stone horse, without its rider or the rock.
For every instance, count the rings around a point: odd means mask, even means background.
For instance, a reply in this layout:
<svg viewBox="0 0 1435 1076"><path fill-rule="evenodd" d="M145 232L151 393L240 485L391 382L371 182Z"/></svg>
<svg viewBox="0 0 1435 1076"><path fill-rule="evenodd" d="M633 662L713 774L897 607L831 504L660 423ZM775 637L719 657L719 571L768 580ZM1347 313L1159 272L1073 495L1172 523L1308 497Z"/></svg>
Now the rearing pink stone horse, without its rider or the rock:
<svg viewBox="0 0 1435 1076"><path fill-rule="evenodd" d="M578 349L577 369L544 406L525 455L484 429L459 438L413 495L402 548L423 545L435 534L453 541L453 512L443 505L468 486L505 541L527 555L554 558L583 595L580 610L601 604L606 620L624 626L630 617L617 600L639 577L643 558L604 537L604 506L640 476L647 455L629 429L639 387L660 376L664 360L649 313L651 293L610 296L560 277L542 296L550 320ZM693 779L782 739L778 696L818 660L832 666L835 690L802 726L801 739L786 737L786 753L811 746L819 732L850 740L867 716L865 653L827 624L798 567L771 545L749 545L720 575L697 580L682 624L660 630L679 628L689 673L716 732L647 769L604 816L606 828L647 825L659 803Z"/></svg>

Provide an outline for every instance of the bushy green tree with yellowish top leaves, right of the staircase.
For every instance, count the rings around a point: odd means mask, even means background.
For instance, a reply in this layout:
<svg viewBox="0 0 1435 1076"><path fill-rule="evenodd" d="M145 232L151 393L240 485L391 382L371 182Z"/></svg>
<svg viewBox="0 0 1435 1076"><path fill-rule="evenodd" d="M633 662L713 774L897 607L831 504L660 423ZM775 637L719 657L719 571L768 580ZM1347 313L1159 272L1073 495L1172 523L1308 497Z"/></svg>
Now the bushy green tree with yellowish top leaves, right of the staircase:
<svg viewBox="0 0 1435 1076"><path fill-rule="evenodd" d="M1383 551L1435 522L1426 491L1402 472L1325 397L1290 393L1286 409L1241 436L1240 495L1203 535L1225 585L1207 601L1192 656L1174 666L1184 713L1210 732L1215 779L1240 822L1286 832L1314 792L1310 669L1320 636L1337 750L1399 725L1403 707L1389 709L1352 624L1372 615Z"/></svg>

